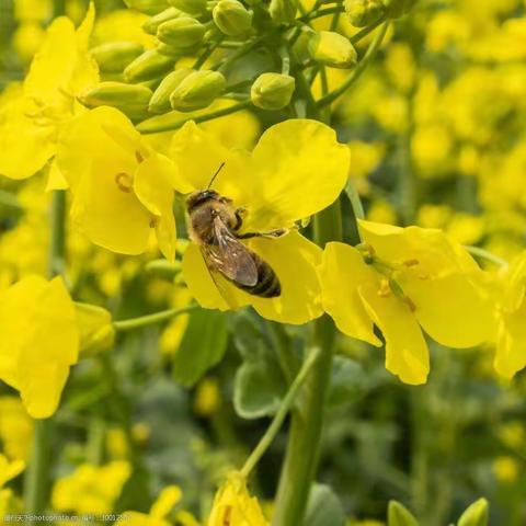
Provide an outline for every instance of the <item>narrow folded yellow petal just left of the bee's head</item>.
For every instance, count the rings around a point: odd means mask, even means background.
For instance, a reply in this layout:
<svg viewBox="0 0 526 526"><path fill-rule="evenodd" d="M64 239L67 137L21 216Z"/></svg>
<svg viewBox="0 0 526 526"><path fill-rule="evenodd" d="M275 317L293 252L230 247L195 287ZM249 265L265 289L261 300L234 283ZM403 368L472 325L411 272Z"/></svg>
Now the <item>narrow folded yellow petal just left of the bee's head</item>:
<svg viewBox="0 0 526 526"><path fill-rule="evenodd" d="M134 191L153 219L159 248L169 261L175 260L175 219L173 190L170 184L176 175L172 161L152 153L139 163L134 175Z"/></svg>

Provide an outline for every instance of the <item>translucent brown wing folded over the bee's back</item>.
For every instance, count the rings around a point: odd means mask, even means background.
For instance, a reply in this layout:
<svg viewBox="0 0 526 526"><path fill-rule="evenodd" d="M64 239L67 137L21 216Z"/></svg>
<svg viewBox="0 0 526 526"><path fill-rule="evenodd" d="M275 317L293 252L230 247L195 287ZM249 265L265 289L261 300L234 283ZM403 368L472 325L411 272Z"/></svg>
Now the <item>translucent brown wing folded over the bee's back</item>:
<svg viewBox="0 0 526 526"><path fill-rule="evenodd" d="M219 217L214 219L217 244L208 244L205 250L214 266L228 279L253 287L258 283L258 266L250 250L241 243Z"/></svg>

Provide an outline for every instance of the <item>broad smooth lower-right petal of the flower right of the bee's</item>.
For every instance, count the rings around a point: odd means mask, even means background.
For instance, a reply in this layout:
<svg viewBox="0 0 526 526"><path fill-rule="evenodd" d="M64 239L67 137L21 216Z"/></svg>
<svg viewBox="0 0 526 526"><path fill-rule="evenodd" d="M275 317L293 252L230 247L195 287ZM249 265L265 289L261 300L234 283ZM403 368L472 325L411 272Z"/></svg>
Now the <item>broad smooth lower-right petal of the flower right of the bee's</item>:
<svg viewBox="0 0 526 526"><path fill-rule="evenodd" d="M420 324L442 345L471 347L494 339L493 301L468 276L408 279L401 286Z"/></svg>

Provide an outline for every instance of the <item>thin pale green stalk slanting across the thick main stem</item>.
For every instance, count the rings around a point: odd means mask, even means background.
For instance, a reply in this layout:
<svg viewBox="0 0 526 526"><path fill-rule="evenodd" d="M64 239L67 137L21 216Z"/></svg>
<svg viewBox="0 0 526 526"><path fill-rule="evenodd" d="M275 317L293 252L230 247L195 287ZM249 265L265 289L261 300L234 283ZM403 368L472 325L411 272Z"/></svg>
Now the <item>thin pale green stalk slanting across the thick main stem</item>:
<svg viewBox="0 0 526 526"><path fill-rule="evenodd" d="M265 451L268 449L268 447L273 443L274 438L279 432L279 428L282 427L285 416L287 415L289 409L291 408L294 401L296 400L296 396L299 392L299 388L302 386L307 375L309 374L310 369L312 368L316 361L318 359L319 354L320 354L320 350L315 348L310 352L309 356L304 362L304 365L299 369L299 373L297 374L285 398L283 399L283 402L279 405L277 413L272 420L271 425L266 430L265 434L262 436L261 441L255 446L254 450L250 454L243 467L241 468L241 473L243 474L243 477L247 478L250 474L254 466L259 462L261 457L265 454Z"/></svg>

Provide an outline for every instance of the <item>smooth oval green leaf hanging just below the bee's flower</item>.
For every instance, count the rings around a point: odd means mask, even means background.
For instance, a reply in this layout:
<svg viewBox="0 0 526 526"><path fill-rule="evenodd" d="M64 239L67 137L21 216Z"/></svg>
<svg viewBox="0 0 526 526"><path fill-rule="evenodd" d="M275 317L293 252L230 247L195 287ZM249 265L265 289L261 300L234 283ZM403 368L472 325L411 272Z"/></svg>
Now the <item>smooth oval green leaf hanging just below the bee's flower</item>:
<svg viewBox="0 0 526 526"><path fill-rule="evenodd" d="M173 357L173 378L192 387L221 361L227 348L227 317L215 310L192 312L179 350Z"/></svg>

